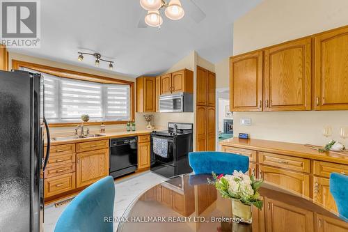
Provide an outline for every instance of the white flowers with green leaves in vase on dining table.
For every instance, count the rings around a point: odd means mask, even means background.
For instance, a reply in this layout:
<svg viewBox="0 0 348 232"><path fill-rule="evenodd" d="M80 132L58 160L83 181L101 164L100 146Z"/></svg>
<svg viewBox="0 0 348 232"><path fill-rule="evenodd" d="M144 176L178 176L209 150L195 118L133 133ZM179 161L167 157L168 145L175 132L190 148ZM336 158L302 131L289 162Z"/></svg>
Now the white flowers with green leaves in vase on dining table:
<svg viewBox="0 0 348 232"><path fill-rule="evenodd" d="M214 180L208 182L215 185L223 198L232 199L232 216L240 219L241 222L251 224L252 209L254 205L262 209L263 203L260 200L258 189L263 180L256 180L255 177L248 176L242 171L234 171L232 175L219 175L213 172Z"/></svg>

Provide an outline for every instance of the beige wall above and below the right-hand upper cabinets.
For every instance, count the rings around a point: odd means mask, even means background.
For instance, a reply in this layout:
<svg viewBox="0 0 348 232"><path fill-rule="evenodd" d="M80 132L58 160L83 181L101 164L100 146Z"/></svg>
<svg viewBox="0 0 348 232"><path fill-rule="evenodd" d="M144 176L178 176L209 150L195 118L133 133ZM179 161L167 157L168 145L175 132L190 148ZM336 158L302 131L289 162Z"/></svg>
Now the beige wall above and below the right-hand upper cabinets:
<svg viewBox="0 0 348 232"><path fill-rule="evenodd" d="M233 30L233 54L241 54L348 24L347 0L265 0L239 18ZM348 111L235 112L235 134L248 132L251 138L324 144L322 127L348 125ZM239 125L251 118L251 126ZM346 146L348 144L346 143Z"/></svg>

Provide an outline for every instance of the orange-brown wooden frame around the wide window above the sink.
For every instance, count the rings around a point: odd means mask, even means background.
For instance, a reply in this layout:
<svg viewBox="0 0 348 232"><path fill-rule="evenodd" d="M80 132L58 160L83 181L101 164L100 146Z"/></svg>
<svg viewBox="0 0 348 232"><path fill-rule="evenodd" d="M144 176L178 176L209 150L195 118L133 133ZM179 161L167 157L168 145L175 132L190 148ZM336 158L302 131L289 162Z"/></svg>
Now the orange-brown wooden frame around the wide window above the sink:
<svg viewBox="0 0 348 232"><path fill-rule="evenodd" d="M37 63L29 63L26 61L12 61L12 69L19 70L19 68L30 68L32 70L36 70L38 72L45 72L49 75L54 75L56 77L77 79L85 82L97 82L101 84L125 84L129 85L129 93L130 93L130 111L129 111L129 120L134 121L134 82L122 80L122 79L114 79L111 77L102 77L98 75L92 75L85 72L77 72L72 70L66 70L63 68L55 68L47 65L40 65ZM113 125L113 124L126 124L128 121L98 121L98 122L87 122L83 121L78 122L63 122L63 123L49 123L50 127L66 127L66 126L77 126L81 123L84 125L100 125L100 123L104 123L105 125Z"/></svg>

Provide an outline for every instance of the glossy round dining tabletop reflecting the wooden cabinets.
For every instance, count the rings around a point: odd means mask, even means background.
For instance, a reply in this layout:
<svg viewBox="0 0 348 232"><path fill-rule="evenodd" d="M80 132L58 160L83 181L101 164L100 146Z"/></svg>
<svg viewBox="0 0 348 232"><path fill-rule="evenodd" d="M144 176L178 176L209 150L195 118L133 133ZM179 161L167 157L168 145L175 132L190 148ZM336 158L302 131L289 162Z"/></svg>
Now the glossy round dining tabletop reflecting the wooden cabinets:
<svg viewBox="0 0 348 232"><path fill-rule="evenodd" d="M231 199L223 199L211 175L175 176L135 199L119 221L118 232L289 231L347 232L348 223L313 199L271 183L259 192L264 206L253 206L251 224L232 217Z"/></svg>

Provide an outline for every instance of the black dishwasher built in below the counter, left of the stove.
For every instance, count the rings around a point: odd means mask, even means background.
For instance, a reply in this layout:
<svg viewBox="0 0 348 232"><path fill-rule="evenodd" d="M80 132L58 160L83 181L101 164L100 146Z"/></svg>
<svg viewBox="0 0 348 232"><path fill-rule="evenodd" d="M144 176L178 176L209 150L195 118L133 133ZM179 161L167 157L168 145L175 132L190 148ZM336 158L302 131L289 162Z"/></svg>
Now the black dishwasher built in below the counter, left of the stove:
<svg viewBox="0 0 348 232"><path fill-rule="evenodd" d="M136 171L137 145L136 137L110 139L110 175L113 178Z"/></svg>

